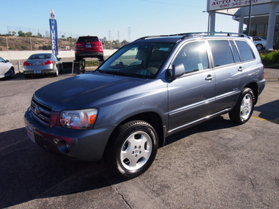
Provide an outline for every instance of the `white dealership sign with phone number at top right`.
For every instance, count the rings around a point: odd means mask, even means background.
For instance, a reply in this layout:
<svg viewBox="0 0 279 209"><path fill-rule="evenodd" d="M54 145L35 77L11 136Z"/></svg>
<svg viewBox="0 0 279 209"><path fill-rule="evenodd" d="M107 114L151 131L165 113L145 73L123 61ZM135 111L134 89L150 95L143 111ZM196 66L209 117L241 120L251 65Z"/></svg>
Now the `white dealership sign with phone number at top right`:
<svg viewBox="0 0 279 209"><path fill-rule="evenodd" d="M272 0L252 0L252 5L270 3ZM229 8L239 8L250 6L249 0L209 0L209 10L225 10Z"/></svg>

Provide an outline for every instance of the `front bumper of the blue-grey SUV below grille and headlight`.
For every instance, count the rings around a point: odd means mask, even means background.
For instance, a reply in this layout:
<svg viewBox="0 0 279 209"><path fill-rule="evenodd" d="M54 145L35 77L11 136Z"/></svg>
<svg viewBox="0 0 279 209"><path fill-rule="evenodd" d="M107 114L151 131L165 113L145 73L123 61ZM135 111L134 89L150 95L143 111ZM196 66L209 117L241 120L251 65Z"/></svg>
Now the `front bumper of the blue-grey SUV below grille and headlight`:
<svg viewBox="0 0 279 209"><path fill-rule="evenodd" d="M114 130L114 126L92 130L46 127L33 118L30 109L24 114L24 125L28 125L33 131L35 143L51 153L89 161L97 161L103 157L107 141Z"/></svg>

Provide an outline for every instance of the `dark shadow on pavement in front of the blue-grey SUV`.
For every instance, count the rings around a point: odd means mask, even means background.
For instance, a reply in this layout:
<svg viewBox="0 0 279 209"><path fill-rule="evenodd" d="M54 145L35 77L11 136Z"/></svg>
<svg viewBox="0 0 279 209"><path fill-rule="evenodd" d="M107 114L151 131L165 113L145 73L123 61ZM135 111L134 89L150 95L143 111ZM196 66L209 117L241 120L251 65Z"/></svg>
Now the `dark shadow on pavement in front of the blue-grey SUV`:
<svg viewBox="0 0 279 209"><path fill-rule="evenodd" d="M0 139L0 208L109 186L103 174L110 176L110 170L103 162L47 153L29 140L24 127L1 132Z"/></svg>

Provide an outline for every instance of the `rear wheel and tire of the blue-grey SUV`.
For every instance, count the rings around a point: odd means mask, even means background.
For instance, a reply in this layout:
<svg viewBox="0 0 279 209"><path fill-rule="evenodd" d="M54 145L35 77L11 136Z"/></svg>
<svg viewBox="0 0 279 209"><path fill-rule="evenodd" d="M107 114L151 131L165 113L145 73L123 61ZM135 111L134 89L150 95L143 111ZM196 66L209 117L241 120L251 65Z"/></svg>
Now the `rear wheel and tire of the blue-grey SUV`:
<svg viewBox="0 0 279 209"><path fill-rule="evenodd" d="M246 123L252 116L254 105L255 96L252 89L244 88L236 106L229 112L229 118L237 124Z"/></svg>

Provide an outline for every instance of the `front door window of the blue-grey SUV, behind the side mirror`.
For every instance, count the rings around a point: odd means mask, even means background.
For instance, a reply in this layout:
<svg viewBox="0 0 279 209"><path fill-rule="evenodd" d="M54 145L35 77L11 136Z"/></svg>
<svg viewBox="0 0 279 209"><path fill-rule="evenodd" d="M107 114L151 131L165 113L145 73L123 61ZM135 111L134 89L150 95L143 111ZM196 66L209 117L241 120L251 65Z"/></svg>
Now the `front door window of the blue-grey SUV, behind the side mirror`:
<svg viewBox="0 0 279 209"><path fill-rule="evenodd" d="M184 65L186 73L208 69L209 59L204 41L189 42L184 45L172 64L180 63Z"/></svg>

